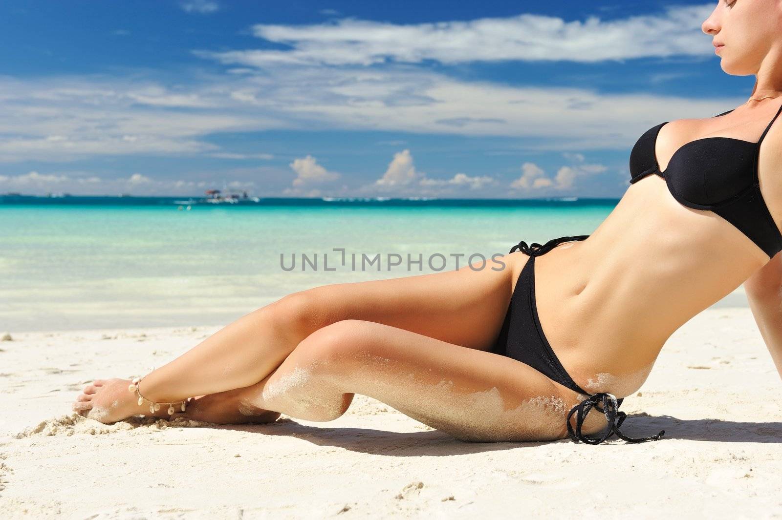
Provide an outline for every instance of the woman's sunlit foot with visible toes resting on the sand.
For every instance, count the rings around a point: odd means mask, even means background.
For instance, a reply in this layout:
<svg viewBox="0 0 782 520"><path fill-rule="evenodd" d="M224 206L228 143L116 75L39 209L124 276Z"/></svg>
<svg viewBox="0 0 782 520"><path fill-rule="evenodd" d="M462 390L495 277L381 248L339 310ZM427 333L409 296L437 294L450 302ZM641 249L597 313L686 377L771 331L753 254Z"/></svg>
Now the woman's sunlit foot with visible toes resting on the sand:
<svg viewBox="0 0 782 520"><path fill-rule="evenodd" d="M145 417L171 418L166 404L162 404L160 410L155 413L149 411L147 403L139 406L135 392L127 390L131 383L131 379L95 379L91 385L84 386L71 408L79 415L94 418L103 424L113 424L139 414Z"/></svg>

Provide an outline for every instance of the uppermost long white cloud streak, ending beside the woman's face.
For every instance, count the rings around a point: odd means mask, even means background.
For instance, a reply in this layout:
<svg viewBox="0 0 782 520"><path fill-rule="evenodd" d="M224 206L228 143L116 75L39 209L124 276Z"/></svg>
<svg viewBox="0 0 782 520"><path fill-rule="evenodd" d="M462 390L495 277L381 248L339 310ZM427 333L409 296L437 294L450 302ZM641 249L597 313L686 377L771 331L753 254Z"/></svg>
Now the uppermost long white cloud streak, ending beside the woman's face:
<svg viewBox="0 0 782 520"><path fill-rule="evenodd" d="M566 21L521 14L468 21L394 24L351 18L311 25L253 26L256 37L291 50L217 52L246 66L279 63L362 65L436 60L461 63L502 60L602 62L605 60L713 54L701 23L712 5L662 6L661 13Z"/></svg>

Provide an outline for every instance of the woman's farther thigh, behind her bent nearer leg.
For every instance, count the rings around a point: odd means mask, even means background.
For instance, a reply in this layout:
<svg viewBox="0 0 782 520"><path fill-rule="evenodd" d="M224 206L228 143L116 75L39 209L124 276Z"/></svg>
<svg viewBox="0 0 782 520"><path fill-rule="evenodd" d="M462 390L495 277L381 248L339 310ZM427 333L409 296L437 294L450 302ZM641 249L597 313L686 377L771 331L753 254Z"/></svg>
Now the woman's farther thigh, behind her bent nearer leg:
<svg viewBox="0 0 782 520"><path fill-rule="evenodd" d="M346 319L382 323L451 344L488 350L500 333L518 273L521 252L417 276L334 283L283 298L308 332ZM281 301L280 303L283 303ZM285 308L283 306L283 308Z"/></svg>

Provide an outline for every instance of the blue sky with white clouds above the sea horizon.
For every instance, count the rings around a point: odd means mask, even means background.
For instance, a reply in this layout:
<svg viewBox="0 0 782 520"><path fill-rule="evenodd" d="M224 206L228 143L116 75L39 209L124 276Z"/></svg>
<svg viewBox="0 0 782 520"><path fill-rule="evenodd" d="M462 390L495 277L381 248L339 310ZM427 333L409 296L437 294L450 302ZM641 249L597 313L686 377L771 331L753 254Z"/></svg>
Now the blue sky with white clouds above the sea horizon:
<svg viewBox="0 0 782 520"><path fill-rule="evenodd" d="M3 2L0 192L620 197L716 2Z"/></svg>

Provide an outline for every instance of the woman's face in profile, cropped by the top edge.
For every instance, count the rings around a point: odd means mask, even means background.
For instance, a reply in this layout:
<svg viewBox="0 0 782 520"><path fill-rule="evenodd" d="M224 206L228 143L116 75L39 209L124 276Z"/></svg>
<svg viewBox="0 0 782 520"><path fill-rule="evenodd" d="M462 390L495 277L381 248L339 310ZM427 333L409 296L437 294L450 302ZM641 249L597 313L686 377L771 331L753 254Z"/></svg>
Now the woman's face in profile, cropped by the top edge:
<svg viewBox="0 0 782 520"><path fill-rule="evenodd" d="M780 59L782 0L719 0L701 30L724 45L716 52L726 73L756 74L766 56Z"/></svg>

